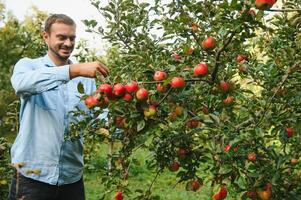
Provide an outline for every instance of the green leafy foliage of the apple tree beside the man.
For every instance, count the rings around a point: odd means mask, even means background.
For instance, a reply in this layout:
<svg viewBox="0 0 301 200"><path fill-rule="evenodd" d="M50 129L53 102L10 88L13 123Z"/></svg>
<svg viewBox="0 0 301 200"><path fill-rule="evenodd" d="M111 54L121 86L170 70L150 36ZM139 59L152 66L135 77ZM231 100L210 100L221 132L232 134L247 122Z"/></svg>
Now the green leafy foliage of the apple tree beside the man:
<svg viewBox="0 0 301 200"><path fill-rule="evenodd" d="M283 2L284 9L301 5ZM112 0L105 7L97 0L91 3L103 13L107 27L85 20L88 29L113 45L107 55L107 83L136 80L149 91L146 101L131 102L95 93L101 104L91 109L94 116L84 125L92 124L87 132L94 141L107 139L110 144L102 176L107 193L120 190L130 199L159 199L151 193L156 178L177 162L177 183L187 183L187 189L191 180L209 184L210 197L226 186L229 196L238 199L247 198L248 192L262 198L263 191L273 199L300 198L298 13L290 16L280 10L267 18L269 11L240 0ZM214 49L202 45L208 36L216 39ZM247 58L237 61L239 54ZM208 75L194 77L193 67L203 62ZM167 72L167 79L153 81L157 70ZM185 79L184 88L156 90L155 84L168 87L175 76ZM151 117L145 114L150 105L157 109ZM103 107L109 109L108 123L97 118ZM182 114L175 115L177 107L183 108ZM155 178L147 189L131 191L131 155L141 147L152 153L147 162ZM179 155L180 149L185 156Z"/></svg>

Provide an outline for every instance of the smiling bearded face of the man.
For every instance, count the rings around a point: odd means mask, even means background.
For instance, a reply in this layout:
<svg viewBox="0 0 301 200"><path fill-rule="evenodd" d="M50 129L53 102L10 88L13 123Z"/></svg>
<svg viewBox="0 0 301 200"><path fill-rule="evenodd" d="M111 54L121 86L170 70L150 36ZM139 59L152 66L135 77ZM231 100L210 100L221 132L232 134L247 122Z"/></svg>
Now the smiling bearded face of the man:
<svg viewBox="0 0 301 200"><path fill-rule="evenodd" d="M75 29L75 25L64 23L52 24L50 32L44 32L43 34L49 53L62 61L66 61L74 49Z"/></svg>

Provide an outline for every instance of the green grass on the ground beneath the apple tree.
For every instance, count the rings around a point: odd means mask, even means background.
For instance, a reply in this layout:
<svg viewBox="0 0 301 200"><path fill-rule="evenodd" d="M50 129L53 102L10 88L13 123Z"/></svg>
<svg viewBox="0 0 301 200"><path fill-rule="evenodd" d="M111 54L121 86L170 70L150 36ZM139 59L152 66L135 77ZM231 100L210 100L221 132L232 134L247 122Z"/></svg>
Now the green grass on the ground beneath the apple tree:
<svg viewBox="0 0 301 200"><path fill-rule="evenodd" d="M94 158L92 158L92 164L96 167L104 167L106 164L106 147L102 146L101 150L97 153ZM134 192L136 189L146 190L151 181L153 180L155 173L148 170L145 164L146 152L143 150L138 150L134 153L135 158L139 160L139 163L132 165L132 168L129 172L129 189ZM103 194L104 186L101 184L101 175L94 172L86 171L84 174L85 178L85 188L86 188L86 198L87 200L98 200L99 196ZM195 199L210 199L209 187L202 186L198 191L186 191L186 183L177 184L176 173L172 173L168 170L165 170L162 173L157 181L155 182L152 193L159 195L160 199L164 200L195 200ZM114 192L113 192L114 193ZM113 199L113 194L107 197L107 200ZM136 196L136 195L134 195ZM124 197L125 200L131 199L131 197Z"/></svg>

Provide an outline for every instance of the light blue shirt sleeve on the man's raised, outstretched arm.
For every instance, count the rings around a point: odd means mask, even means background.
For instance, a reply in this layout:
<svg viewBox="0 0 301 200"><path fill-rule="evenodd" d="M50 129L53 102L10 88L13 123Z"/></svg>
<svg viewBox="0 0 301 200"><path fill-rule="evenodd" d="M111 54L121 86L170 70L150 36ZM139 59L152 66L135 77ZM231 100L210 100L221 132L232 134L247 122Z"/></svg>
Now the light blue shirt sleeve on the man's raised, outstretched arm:
<svg viewBox="0 0 301 200"><path fill-rule="evenodd" d="M42 93L69 80L69 65L34 69L33 62L29 58L17 62L11 77L16 94L21 96Z"/></svg>

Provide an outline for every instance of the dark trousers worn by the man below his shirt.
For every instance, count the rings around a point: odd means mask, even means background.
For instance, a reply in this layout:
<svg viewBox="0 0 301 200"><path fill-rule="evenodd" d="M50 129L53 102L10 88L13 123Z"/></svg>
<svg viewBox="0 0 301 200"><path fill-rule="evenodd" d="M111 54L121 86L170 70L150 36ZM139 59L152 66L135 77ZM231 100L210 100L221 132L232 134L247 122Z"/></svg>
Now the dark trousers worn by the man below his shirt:
<svg viewBox="0 0 301 200"><path fill-rule="evenodd" d="M8 200L84 200L83 179L67 185L49 185L15 172Z"/></svg>

